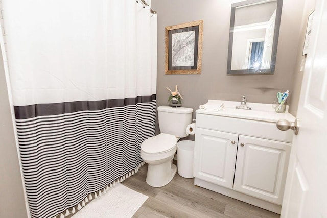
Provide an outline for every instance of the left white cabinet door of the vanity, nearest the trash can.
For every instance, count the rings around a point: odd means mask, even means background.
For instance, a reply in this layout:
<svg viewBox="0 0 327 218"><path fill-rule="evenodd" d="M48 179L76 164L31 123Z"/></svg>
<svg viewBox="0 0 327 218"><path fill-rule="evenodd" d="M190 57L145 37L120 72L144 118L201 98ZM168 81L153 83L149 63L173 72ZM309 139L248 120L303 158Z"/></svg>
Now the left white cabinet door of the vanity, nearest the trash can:
<svg viewBox="0 0 327 218"><path fill-rule="evenodd" d="M194 177L232 188L238 135L196 128Z"/></svg>

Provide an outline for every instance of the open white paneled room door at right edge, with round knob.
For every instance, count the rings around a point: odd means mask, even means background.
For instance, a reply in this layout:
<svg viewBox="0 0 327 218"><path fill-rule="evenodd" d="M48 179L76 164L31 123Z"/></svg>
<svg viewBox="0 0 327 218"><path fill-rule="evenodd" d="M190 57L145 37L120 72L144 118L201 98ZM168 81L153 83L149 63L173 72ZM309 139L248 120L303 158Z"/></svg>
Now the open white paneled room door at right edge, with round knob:
<svg viewBox="0 0 327 218"><path fill-rule="evenodd" d="M327 217L326 27L327 0L317 0L281 217Z"/></svg>

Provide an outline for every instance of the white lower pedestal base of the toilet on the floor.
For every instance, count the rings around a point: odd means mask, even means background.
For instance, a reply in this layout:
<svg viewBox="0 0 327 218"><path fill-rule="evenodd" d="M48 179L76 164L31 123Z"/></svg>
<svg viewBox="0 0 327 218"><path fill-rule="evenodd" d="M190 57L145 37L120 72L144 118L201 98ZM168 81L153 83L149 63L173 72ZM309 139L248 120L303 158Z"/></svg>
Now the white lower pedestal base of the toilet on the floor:
<svg viewBox="0 0 327 218"><path fill-rule="evenodd" d="M161 164L149 164L147 178L145 180L148 185L156 188L167 185L177 172L177 167L172 162L173 158Z"/></svg>

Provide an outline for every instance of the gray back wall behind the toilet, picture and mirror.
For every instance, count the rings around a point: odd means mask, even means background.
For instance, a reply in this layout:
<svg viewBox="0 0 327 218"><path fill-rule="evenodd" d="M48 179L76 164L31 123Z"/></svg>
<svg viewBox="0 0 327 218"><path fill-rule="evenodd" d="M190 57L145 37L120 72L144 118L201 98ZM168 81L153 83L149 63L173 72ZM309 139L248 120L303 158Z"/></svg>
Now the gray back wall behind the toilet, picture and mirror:
<svg viewBox="0 0 327 218"><path fill-rule="evenodd" d="M174 89L176 84L183 96L183 107L194 110L208 99L241 101L242 95L248 102L272 103L276 101L277 91L286 90L290 90L288 104L297 105L298 98L293 96L292 88L305 0L284 0L274 75L226 74L231 3L227 0L151 1L151 8L158 13L157 106L167 105L166 87ZM165 75L165 27L196 20L204 21L201 74ZM290 111L294 112L292 107Z"/></svg>

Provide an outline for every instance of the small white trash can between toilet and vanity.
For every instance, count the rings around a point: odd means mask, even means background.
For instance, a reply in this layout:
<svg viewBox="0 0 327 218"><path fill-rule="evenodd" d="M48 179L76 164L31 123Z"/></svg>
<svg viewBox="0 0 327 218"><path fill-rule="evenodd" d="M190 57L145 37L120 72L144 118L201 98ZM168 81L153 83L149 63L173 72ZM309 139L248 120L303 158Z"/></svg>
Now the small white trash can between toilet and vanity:
<svg viewBox="0 0 327 218"><path fill-rule="evenodd" d="M184 178L193 178L194 141L177 142L177 171Z"/></svg>

